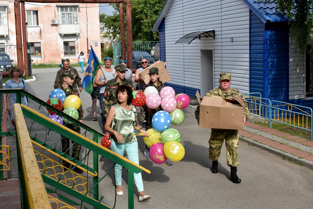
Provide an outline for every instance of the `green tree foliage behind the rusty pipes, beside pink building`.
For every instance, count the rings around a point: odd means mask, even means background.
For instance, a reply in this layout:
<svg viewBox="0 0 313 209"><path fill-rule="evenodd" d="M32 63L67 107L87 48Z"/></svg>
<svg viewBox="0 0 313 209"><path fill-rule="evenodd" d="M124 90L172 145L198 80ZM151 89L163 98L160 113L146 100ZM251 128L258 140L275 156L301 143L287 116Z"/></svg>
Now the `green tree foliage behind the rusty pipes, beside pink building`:
<svg viewBox="0 0 313 209"><path fill-rule="evenodd" d="M158 33L152 27L166 0L131 0L131 20L133 41L157 41ZM107 28L106 37L118 40L121 36L119 4L113 6L113 15L100 14L100 23ZM124 4L124 24L126 37L126 6Z"/></svg>

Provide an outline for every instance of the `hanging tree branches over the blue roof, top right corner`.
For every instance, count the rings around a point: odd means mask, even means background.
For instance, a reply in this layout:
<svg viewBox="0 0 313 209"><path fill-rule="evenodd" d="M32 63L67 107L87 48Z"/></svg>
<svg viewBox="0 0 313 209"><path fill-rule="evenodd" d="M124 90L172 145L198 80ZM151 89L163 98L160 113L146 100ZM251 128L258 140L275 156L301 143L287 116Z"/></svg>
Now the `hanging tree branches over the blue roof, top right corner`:
<svg viewBox="0 0 313 209"><path fill-rule="evenodd" d="M291 35L296 38L296 52L303 55L308 39L313 38L313 0L276 0L275 2L276 10L290 20Z"/></svg>

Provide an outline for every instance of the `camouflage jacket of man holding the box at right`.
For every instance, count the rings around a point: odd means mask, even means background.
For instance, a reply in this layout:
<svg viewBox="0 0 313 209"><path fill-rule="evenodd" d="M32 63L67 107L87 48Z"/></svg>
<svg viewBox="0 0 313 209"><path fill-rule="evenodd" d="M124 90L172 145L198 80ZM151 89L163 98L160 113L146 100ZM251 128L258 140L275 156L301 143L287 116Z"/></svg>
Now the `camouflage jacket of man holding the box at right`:
<svg viewBox="0 0 313 209"><path fill-rule="evenodd" d="M232 97L234 95L237 95L237 93L239 93L239 96L242 97L239 90L237 90L237 89L229 88L227 95L225 95L225 94L223 94L223 91L218 87L216 89L212 89L211 91L209 91L207 94L205 94L205 96L224 98L224 99L232 99ZM200 113L200 104L197 106L197 109L195 110L196 118L198 118L199 113ZM247 118L250 116L250 112L249 112L249 108L248 108L247 103L244 103L244 116L246 116Z"/></svg>

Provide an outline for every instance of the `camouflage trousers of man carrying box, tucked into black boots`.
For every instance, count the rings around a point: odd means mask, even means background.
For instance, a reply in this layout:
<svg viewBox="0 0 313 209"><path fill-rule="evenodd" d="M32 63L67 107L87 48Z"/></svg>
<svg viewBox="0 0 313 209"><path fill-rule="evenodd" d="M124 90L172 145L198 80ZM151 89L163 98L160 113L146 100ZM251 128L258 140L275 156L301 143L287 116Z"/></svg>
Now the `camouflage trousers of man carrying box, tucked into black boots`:
<svg viewBox="0 0 313 209"><path fill-rule="evenodd" d="M222 145L225 139L227 165L239 166L238 162L238 145L239 135L238 130L221 130L211 129L211 138L209 140L209 156L212 161L217 161L221 155Z"/></svg>

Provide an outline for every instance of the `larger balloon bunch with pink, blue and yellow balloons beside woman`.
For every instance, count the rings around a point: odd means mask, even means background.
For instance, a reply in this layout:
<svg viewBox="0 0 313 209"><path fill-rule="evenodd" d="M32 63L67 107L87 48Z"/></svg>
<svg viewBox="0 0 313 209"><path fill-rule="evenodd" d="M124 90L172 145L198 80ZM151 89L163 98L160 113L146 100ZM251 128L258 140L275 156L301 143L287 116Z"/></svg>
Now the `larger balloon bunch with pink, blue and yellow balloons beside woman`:
<svg viewBox="0 0 313 209"><path fill-rule="evenodd" d="M152 116L152 127L148 129L149 138L143 140L150 147L149 155L153 162L164 163L167 159L180 161L185 155L185 149L180 143L181 135L176 129L169 128L171 124L180 125L185 120L181 109L190 104L189 96L177 94L172 87L164 87L158 94L154 86L145 89L146 105L155 109L161 105L162 110Z"/></svg>

